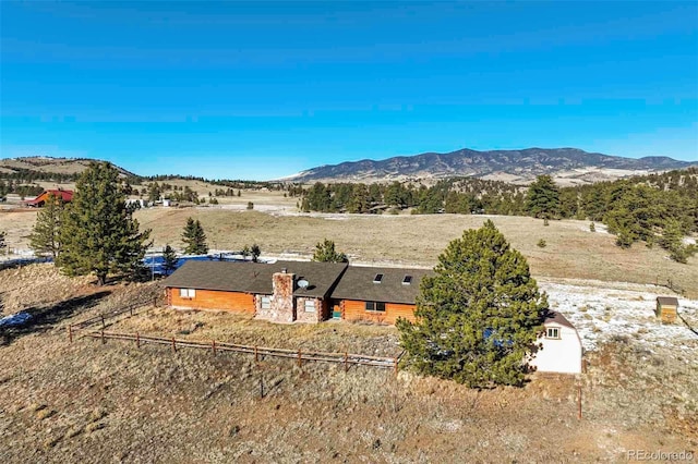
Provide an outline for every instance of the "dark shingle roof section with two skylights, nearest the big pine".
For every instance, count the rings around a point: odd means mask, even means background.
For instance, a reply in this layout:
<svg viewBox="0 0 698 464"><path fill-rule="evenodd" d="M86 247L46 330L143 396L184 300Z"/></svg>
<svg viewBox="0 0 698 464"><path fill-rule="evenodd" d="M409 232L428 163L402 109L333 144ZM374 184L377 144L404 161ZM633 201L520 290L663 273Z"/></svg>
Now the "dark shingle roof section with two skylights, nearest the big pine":
<svg viewBox="0 0 698 464"><path fill-rule="evenodd" d="M382 273L381 283L374 283ZM433 276L430 269L378 268L350 266L332 292L336 300L360 300L366 302L414 304L424 276ZM412 276L409 285L402 283L405 276Z"/></svg>

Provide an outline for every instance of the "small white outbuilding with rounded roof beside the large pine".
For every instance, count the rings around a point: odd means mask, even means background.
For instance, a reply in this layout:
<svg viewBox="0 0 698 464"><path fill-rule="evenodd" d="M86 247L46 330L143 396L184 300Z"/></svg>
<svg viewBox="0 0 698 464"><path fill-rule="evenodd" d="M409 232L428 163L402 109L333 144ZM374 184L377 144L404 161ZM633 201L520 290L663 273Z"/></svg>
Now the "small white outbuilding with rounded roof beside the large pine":
<svg viewBox="0 0 698 464"><path fill-rule="evenodd" d="M543 321L545 332L539 338L541 350L530 366L539 373L581 374L581 339L565 316L551 312Z"/></svg>

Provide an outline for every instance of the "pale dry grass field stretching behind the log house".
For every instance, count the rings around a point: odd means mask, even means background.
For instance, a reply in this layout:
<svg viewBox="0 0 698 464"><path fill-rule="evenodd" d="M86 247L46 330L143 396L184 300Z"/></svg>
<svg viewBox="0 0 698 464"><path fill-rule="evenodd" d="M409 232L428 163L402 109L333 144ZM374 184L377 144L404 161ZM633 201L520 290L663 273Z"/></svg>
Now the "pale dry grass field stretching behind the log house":
<svg viewBox="0 0 698 464"><path fill-rule="evenodd" d="M147 208L135 217L143 228L153 230L158 249L167 243L181 247L180 234L191 216L201 220L214 249L236 251L257 243L263 255L308 258L315 244L327 237L357 262L428 267L465 229L492 219L526 256L534 276L636 283L672 279L688 295L698 295L698 258L681 265L659 247L636 244L622 249L600 224L597 232L590 232L587 221L550 221L545 227L543 221L527 217L301 215L290 212L293 198L282 198L276 192L245 192L229 200L219 207ZM260 210L244 210L246 202ZM35 217L36 211L0 211L0 230L8 231L11 247L27 247ZM546 242L544 248L537 246L541 239Z"/></svg>

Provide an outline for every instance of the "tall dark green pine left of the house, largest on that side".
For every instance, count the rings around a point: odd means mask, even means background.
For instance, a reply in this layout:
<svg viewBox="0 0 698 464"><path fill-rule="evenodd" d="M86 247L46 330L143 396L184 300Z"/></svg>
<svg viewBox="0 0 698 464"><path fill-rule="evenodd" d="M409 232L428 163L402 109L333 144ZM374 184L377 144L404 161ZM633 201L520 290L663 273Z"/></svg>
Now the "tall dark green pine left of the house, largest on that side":
<svg viewBox="0 0 698 464"><path fill-rule="evenodd" d="M139 231L127 207L119 171L108 162L91 162L62 215L57 265L69 276L94 273L100 285L110 272L135 277L143 270L149 234Z"/></svg>

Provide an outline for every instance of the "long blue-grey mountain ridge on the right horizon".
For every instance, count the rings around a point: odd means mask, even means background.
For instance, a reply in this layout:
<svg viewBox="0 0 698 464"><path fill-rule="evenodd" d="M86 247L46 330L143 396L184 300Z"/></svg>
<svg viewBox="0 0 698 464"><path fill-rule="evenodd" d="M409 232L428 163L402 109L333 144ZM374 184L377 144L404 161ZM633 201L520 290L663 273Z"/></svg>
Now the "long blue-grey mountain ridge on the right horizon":
<svg viewBox="0 0 698 464"><path fill-rule="evenodd" d="M426 152L385 160L342 162L303 171L289 180L388 181L476 176L513 183L528 183L551 174L561 183L590 183L627 175L687 168L695 162L666 157L623 158L587 152L577 148L527 148L477 151L460 149L447 154Z"/></svg>

